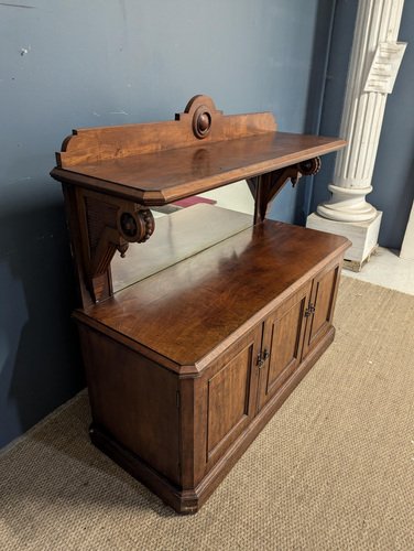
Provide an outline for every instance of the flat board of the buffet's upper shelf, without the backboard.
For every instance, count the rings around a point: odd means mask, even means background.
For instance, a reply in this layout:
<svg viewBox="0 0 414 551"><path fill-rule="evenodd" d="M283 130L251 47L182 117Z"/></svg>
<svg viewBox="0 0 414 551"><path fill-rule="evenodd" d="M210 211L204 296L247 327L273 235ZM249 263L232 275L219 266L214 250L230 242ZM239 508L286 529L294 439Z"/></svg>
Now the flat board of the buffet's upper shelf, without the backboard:
<svg viewBox="0 0 414 551"><path fill-rule="evenodd" d="M145 205L163 205L337 151L344 145L344 140L336 138L265 132L146 154L94 160L53 172L96 191L116 193Z"/></svg>

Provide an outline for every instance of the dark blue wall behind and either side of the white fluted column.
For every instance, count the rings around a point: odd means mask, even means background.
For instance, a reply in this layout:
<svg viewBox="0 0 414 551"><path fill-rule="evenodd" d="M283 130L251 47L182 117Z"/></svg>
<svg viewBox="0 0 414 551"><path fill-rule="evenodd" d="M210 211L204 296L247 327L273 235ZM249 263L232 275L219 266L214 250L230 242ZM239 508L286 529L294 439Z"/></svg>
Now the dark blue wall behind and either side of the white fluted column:
<svg viewBox="0 0 414 551"><path fill-rule="evenodd" d="M347 67L352 45L358 0L338 0L335 11L320 133L337 136L344 105ZM383 212L379 242L400 249L414 198L414 1L406 0L399 40L408 42L394 90L388 97L380 144L367 196ZM309 212L329 197L327 185L334 175L335 155L324 158L324 172L314 179Z"/></svg>

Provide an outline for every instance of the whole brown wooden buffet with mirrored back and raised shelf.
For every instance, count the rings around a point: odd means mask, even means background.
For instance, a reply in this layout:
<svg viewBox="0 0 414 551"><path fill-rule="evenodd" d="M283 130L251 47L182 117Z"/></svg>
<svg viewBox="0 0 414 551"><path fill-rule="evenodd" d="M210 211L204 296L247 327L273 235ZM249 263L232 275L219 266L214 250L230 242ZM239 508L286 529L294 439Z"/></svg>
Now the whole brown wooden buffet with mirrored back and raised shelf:
<svg viewBox="0 0 414 551"><path fill-rule="evenodd" d="M56 154L91 441L178 512L199 509L334 338L349 241L266 210L344 145L195 96L167 122L74 130ZM155 208L242 179L250 225L198 205L155 226ZM197 253L181 250L203 239ZM129 261L132 281L117 289Z"/></svg>

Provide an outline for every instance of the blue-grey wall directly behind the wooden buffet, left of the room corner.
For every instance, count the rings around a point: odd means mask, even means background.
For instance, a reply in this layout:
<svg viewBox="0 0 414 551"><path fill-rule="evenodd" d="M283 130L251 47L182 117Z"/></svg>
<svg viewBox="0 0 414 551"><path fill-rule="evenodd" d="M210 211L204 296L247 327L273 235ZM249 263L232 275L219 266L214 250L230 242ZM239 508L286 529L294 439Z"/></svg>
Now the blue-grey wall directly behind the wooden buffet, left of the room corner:
<svg viewBox="0 0 414 551"><path fill-rule="evenodd" d="M48 176L63 138L72 128L170 119L197 93L225 112L271 110L281 130L314 129L333 7L0 3L0 446L84 383L63 201ZM292 222L299 197L286 188L272 216Z"/></svg>

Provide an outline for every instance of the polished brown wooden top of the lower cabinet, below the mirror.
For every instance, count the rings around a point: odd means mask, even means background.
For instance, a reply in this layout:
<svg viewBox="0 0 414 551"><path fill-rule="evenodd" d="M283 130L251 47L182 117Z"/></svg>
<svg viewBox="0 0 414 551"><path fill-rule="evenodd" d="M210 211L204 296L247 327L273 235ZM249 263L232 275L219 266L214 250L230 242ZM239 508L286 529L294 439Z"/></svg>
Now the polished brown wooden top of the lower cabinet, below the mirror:
<svg viewBox="0 0 414 551"><path fill-rule="evenodd" d="M79 312L182 365L197 364L349 245L265 220Z"/></svg>

